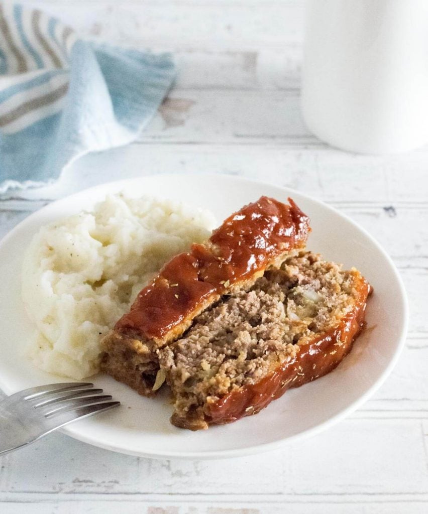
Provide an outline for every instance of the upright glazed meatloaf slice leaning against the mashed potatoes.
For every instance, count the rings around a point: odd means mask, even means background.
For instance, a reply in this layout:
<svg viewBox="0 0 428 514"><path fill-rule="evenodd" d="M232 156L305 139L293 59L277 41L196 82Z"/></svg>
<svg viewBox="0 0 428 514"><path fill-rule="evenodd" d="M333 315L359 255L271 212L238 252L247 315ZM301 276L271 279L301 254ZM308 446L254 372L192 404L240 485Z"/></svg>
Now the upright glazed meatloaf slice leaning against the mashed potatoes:
<svg viewBox="0 0 428 514"><path fill-rule="evenodd" d="M102 341L101 369L142 395L156 390L157 350L180 337L221 295L251 287L305 246L309 218L262 196L229 216L209 240L175 256L142 289L128 314Z"/></svg>

